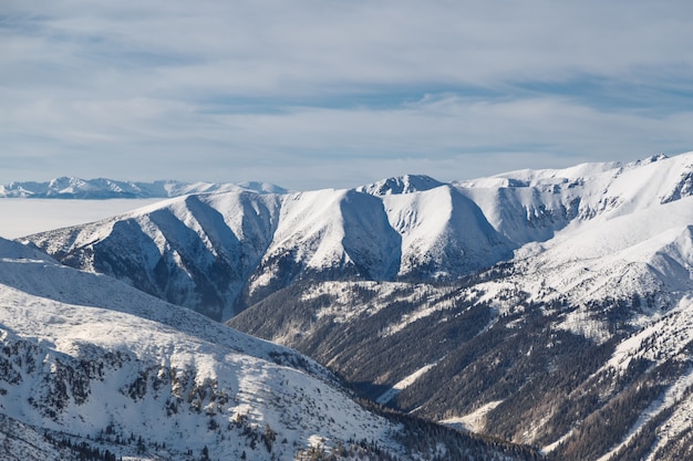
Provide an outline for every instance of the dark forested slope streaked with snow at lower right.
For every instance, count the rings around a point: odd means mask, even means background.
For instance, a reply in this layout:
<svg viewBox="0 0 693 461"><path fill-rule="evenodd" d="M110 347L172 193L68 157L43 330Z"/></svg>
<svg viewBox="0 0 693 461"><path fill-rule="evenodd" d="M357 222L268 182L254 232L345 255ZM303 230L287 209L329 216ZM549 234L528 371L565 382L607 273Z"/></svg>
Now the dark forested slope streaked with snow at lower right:
<svg viewBox="0 0 693 461"><path fill-rule="evenodd" d="M693 442L690 295L672 307L645 296L530 301L488 276L296 285L230 323L299 348L374 400L541 447L549 459L687 459L679 447Z"/></svg>

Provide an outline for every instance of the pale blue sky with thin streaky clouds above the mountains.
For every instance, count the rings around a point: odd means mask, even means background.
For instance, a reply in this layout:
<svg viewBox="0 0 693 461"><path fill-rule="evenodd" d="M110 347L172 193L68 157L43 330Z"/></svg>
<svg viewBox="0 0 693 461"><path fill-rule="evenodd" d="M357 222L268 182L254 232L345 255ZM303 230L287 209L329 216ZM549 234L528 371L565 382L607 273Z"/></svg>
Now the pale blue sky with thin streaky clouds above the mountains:
<svg viewBox="0 0 693 461"><path fill-rule="evenodd" d="M693 150L685 0L2 0L0 184L346 188Z"/></svg>

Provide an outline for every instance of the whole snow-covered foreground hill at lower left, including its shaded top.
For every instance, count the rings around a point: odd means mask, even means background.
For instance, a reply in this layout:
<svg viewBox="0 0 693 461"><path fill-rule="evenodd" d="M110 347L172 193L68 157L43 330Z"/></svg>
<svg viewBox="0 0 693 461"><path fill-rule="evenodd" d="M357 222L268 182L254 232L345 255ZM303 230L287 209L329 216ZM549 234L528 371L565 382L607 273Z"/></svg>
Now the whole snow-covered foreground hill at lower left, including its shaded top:
<svg viewBox="0 0 693 461"><path fill-rule="evenodd" d="M408 443L412 422L311 359L4 240L0 340L8 461L532 458L452 431Z"/></svg>

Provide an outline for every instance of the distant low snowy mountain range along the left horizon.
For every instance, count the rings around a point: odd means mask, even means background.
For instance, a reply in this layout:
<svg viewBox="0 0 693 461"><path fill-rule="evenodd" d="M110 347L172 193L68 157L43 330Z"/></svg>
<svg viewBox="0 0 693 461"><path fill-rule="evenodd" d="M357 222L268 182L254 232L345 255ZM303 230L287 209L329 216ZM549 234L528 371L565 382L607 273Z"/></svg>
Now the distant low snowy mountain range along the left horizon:
<svg viewBox="0 0 693 461"><path fill-rule="evenodd" d="M216 184L163 180L154 182L116 181L61 177L48 182L10 182L0 186L0 198L44 199L149 199L179 197L188 193L251 190L259 193L286 193L279 186L266 182Z"/></svg>

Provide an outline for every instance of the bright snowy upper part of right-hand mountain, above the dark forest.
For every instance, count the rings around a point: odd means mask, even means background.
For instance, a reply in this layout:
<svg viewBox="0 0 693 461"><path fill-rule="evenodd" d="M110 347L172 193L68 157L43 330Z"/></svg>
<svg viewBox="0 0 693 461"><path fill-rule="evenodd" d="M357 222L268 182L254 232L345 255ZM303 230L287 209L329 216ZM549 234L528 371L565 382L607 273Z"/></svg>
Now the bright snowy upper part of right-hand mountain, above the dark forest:
<svg viewBox="0 0 693 461"><path fill-rule="evenodd" d="M494 179L515 186L459 187L523 244L513 264L529 292L541 291L528 286L532 279L573 302L658 293L675 303L690 290L693 154Z"/></svg>

